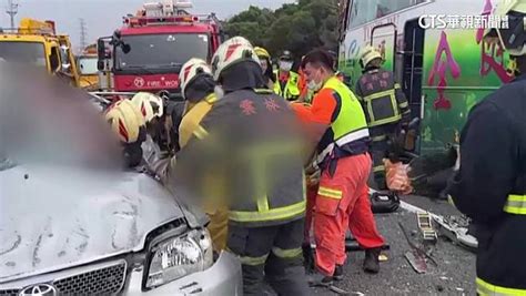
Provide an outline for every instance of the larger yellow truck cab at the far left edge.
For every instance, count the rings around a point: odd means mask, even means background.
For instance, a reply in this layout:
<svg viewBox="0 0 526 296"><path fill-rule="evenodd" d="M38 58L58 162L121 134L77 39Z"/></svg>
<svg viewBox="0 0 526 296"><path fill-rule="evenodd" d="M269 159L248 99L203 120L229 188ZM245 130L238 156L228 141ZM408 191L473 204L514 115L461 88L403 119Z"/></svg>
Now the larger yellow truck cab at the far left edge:
<svg viewBox="0 0 526 296"><path fill-rule="evenodd" d="M24 18L18 29L0 29L0 61L41 67L71 85L80 86L70 39L57 34L53 21Z"/></svg>

